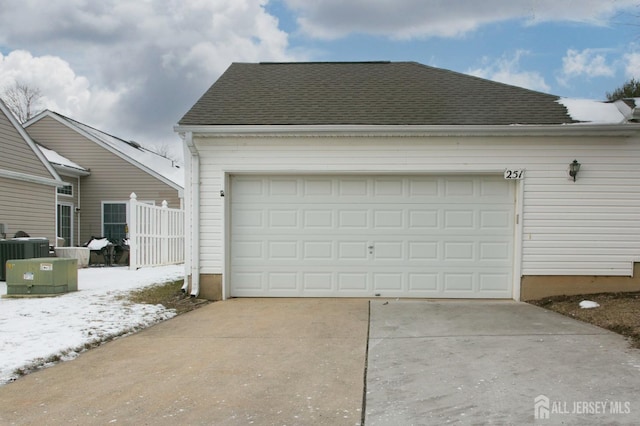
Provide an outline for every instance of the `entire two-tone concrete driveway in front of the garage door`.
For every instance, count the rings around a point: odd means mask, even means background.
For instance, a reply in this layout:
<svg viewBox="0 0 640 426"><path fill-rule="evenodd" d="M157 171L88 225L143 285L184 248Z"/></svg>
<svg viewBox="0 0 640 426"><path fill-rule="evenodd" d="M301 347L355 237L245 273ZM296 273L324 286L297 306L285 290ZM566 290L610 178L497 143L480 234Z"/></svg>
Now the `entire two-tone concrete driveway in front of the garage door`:
<svg viewBox="0 0 640 426"><path fill-rule="evenodd" d="M639 394L640 351L524 303L234 299L0 387L0 424L637 424Z"/></svg>

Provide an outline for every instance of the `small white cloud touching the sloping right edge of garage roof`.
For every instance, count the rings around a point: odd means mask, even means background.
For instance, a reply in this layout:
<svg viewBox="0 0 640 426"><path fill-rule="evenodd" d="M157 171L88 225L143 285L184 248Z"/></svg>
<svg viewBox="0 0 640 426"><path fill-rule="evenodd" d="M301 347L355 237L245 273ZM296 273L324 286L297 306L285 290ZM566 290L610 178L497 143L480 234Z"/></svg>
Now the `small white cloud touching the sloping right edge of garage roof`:
<svg viewBox="0 0 640 426"><path fill-rule="evenodd" d="M527 51L518 50L513 57L503 56L498 60L491 61L487 59L485 63L488 65L468 70L467 73L500 83L548 92L551 88L539 72L523 71L520 69L520 58L527 54Z"/></svg>

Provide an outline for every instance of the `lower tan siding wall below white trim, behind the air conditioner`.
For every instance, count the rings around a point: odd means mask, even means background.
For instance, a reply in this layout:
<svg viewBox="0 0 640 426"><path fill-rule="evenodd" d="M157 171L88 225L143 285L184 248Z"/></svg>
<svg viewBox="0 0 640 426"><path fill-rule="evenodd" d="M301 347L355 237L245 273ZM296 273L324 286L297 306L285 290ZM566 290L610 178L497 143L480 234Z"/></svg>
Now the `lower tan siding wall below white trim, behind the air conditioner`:
<svg viewBox="0 0 640 426"><path fill-rule="evenodd" d="M52 186L0 178L0 223L8 226L7 237L24 231L55 244L55 191Z"/></svg>

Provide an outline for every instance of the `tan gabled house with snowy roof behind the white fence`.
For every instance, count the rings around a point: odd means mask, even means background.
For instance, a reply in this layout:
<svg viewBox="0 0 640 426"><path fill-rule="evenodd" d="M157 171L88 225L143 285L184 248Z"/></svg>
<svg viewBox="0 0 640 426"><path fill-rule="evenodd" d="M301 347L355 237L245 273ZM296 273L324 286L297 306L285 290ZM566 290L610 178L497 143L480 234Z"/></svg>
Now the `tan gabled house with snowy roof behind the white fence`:
<svg viewBox="0 0 640 426"><path fill-rule="evenodd" d="M57 229L66 246L127 236L128 201L182 207L184 171L172 160L52 111L24 125L67 185L58 189Z"/></svg>

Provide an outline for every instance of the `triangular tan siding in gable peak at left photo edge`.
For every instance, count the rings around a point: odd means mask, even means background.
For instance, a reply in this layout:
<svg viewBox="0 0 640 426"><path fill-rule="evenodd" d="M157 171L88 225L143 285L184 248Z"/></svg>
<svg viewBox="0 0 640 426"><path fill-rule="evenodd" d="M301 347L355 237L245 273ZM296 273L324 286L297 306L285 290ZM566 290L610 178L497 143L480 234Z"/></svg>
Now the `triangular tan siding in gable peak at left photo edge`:
<svg viewBox="0 0 640 426"><path fill-rule="evenodd" d="M0 167L12 172L52 178L51 173L2 111L0 111Z"/></svg>

